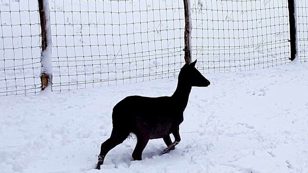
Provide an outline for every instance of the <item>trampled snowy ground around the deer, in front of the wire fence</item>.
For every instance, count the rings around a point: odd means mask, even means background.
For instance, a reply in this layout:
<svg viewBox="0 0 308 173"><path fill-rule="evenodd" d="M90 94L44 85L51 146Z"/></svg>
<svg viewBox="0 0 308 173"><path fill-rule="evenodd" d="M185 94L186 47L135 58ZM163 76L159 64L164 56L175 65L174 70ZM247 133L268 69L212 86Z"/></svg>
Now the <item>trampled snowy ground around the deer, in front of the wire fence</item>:
<svg viewBox="0 0 308 173"><path fill-rule="evenodd" d="M308 64L205 76L212 84L193 88L176 150L158 156L164 142L150 140L132 161L136 140L127 139L102 170L93 168L112 107L128 95L171 95L176 79L0 97L0 172L308 172Z"/></svg>

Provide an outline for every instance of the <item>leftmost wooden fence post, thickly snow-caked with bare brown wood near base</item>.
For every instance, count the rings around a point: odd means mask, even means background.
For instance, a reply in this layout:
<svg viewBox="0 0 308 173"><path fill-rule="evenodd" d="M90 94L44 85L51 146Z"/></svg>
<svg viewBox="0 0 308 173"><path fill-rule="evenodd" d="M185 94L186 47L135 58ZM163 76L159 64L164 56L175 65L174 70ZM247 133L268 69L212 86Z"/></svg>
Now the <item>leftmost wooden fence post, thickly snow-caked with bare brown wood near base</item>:
<svg viewBox="0 0 308 173"><path fill-rule="evenodd" d="M51 90L52 64L51 64L51 28L48 0L39 1L39 15L42 30L42 52L41 52L41 82L42 91L48 86Z"/></svg>

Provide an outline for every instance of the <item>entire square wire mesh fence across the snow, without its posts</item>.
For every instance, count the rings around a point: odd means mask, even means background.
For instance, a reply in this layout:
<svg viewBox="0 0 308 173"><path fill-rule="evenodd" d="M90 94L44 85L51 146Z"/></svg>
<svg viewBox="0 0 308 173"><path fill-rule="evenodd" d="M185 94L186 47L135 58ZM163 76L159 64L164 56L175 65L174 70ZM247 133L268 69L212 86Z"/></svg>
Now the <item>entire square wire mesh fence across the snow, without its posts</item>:
<svg viewBox="0 0 308 173"><path fill-rule="evenodd" d="M183 0L49 0L49 6L53 91L173 77L184 64ZM306 6L298 0L301 61ZM0 11L0 96L37 93L37 0L3 0ZM290 62L287 0L191 0L191 16L193 59L203 73Z"/></svg>

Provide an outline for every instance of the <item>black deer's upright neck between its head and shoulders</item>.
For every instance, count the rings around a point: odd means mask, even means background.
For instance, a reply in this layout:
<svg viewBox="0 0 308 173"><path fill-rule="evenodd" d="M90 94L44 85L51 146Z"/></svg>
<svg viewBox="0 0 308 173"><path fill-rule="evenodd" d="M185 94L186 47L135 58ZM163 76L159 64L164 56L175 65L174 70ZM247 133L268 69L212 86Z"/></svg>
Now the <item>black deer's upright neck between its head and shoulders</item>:
<svg viewBox="0 0 308 173"><path fill-rule="evenodd" d="M174 99L174 103L176 105L179 105L181 109L184 111L187 103L188 103L188 97L190 94L192 87L187 85L180 85L178 83L176 87L176 91L171 96Z"/></svg>

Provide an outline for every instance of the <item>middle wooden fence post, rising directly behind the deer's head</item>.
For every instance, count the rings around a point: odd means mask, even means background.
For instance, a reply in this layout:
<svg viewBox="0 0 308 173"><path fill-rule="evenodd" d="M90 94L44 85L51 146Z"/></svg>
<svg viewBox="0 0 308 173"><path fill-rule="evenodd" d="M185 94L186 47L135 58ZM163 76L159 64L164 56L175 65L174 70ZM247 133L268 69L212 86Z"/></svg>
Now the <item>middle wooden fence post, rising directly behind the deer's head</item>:
<svg viewBox="0 0 308 173"><path fill-rule="evenodd" d="M191 40L191 31L192 31L192 18L191 18L191 9L190 9L190 0L184 0L184 13L185 13L185 31L184 31L184 42L185 42L185 62L191 63L192 58L192 40Z"/></svg>

